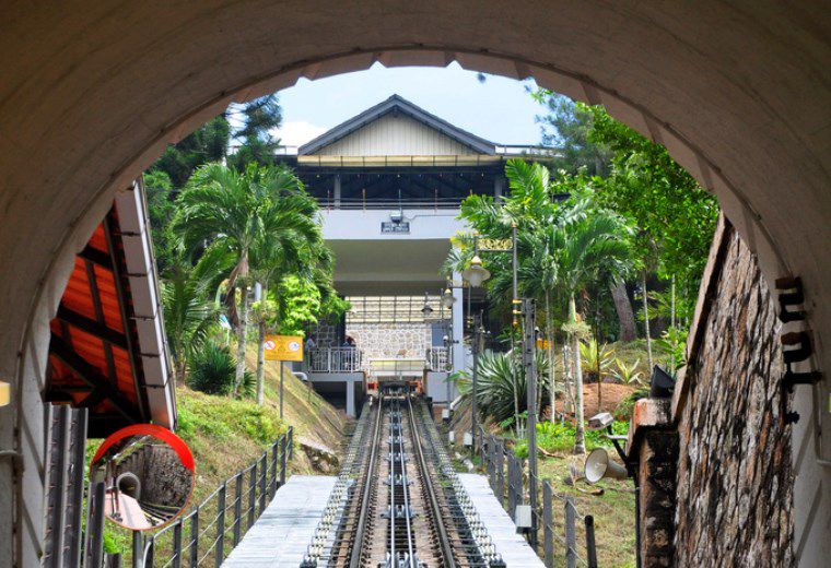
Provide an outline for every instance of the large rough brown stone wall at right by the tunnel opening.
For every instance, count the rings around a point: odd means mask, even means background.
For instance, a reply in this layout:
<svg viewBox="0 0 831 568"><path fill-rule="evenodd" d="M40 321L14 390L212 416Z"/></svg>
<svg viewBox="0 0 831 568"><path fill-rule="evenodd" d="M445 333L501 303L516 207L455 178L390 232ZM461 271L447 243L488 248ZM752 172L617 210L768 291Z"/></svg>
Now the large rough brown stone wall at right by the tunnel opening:
<svg viewBox="0 0 831 568"><path fill-rule="evenodd" d="M780 412L780 323L756 259L736 233L679 422L677 566L792 566L791 427Z"/></svg>

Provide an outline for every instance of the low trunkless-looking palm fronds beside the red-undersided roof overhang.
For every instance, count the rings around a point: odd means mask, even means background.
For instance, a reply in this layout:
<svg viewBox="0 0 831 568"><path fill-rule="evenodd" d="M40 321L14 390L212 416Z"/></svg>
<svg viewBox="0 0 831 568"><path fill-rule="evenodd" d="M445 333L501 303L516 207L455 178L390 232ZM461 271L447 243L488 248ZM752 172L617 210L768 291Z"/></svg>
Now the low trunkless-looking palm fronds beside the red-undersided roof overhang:
<svg viewBox="0 0 831 568"><path fill-rule="evenodd" d="M216 280L233 264L233 257L221 247L211 247L196 267L189 259L175 257L162 280L162 307L165 333L174 359L174 375L182 383L188 362L204 345L216 322L219 309L210 299Z"/></svg>

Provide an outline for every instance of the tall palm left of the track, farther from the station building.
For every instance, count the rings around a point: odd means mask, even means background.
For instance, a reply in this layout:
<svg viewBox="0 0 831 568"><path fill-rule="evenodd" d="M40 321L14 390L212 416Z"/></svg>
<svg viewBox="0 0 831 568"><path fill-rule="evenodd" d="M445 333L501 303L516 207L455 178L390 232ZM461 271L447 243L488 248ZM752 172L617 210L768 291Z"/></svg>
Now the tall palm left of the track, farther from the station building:
<svg viewBox="0 0 831 568"><path fill-rule="evenodd" d="M245 374L245 340L248 329L248 264L250 248L262 233L261 212L270 202L262 184L268 168L249 164L236 171L219 163L198 168L179 196L179 211L174 228L186 249L195 250L207 242L233 251L235 265L229 276L230 316L237 323L236 374L234 397ZM236 315L235 289L241 289Z"/></svg>

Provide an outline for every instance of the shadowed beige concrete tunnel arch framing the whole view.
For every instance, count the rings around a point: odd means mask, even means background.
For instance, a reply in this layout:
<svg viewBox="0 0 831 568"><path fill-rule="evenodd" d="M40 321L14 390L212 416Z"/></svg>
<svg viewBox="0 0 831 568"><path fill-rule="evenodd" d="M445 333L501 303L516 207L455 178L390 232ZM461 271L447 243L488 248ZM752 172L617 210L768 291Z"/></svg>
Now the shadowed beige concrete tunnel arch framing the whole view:
<svg viewBox="0 0 831 568"><path fill-rule="evenodd" d="M490 0L477 12L457 1L109 8L78 0L49 14L20 4L0 35L9 55L0 63L0 372L21 393L16 428L0 421L3 447L20 448L37 469L37 452L11 433L26 430L37 402L48 321L71 258L115 192L229 103L375 61L456 60L606 105L718 197L769 281L803 277L817 351L828 360L831 58L828 20L815 9L575 1L554 10L528 1L507 21L503 3ZM795 433L801 445L812 440L809 430ZM36 517L25 502L21 488L15 518ZM19 548L26 539L34 536L19 534Z"/></svg>

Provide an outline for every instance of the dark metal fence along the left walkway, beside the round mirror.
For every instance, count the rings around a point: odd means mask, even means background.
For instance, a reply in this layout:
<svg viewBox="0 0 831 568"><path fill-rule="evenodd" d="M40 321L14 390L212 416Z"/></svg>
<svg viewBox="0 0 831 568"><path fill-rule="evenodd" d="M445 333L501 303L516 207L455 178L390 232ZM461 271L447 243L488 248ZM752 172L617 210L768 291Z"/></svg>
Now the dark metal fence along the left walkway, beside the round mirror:
<svg viewBox="0 0 831 568"><path fill-rule="evenodd" d="M219 568L285 484L294 429L248 468L225 480L189 513L155 533L132 533L132 568ZM109 558L109 566L118 559Z"/></svg>

